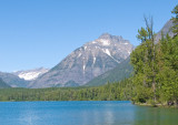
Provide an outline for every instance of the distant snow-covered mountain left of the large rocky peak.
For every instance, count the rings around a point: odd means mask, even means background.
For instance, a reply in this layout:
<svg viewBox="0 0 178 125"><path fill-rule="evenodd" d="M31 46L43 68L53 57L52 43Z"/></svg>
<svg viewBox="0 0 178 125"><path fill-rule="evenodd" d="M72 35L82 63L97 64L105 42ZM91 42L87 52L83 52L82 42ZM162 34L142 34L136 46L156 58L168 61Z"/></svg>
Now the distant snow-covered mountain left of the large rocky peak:
<svg viewBox="0 0 178 125"><path fill-rule="evenodd" d="M39 67L39 69L27 70L27 71L17 71L17 72L13 72L12 74L19 76L20 79L24 79L26 81L32 81L48 71L49 71L48 69Z"/></svg>

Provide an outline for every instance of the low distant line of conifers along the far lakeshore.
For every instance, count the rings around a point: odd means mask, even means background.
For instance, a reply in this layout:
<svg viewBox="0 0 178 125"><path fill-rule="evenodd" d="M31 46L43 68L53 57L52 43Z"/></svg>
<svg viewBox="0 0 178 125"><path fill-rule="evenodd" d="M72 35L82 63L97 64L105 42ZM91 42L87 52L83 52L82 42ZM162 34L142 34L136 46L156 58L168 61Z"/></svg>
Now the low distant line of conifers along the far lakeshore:
<svg viewBox="0 0 178 125"><path fill-rule="evenodd" d="M98 87L1 88L0 101L122 101L130 100L129 80Z"/></svg>

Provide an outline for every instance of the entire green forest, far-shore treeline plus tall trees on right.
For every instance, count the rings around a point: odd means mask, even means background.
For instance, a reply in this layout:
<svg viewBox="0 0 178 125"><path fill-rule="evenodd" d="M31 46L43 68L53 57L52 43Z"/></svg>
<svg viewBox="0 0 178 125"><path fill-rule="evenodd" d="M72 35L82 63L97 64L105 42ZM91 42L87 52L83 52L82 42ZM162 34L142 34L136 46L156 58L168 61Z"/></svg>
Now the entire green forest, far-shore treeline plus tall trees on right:
<svg viewBox="0 0 178 125"><path fill-rule="evenodd" d="M130 55L131 77L102 86L1 88L0 101L123 101L137 104L178 105L178 6L171 11L174 38L162 34L155 43L152 19L138 30L138 45Z"/></svg>

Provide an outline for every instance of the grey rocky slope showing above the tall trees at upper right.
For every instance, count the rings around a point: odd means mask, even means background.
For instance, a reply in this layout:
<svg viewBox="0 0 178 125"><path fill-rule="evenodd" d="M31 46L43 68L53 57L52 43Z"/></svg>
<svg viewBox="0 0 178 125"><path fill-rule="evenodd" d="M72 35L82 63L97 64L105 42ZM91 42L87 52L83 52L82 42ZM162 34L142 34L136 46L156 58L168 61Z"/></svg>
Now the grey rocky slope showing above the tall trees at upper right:
<svg viewBox="0 0 178 125"><path fill-rule="evenodd" d="M166 37L167 34L169 34L169 37L174 37L175 33L172 33L171 28L174 27L172 20L169 20L164 28L156 34L155 41L156 43L159 42L159 40L161 39L161 33L164 34L164 37Z"/></svg>

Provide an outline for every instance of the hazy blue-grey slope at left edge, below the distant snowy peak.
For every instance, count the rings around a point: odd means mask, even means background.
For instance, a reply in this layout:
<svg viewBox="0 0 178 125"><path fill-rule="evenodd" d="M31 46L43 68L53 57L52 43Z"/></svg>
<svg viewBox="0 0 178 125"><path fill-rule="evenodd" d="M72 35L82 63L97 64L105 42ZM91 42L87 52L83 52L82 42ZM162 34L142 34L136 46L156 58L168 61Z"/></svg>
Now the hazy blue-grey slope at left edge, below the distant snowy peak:
<svg viewBox="0 0 178 125"><path fill-rule="evenodd" d="M0 72L0 77L11 87L27 87L28 81L20 79L11 73Z"/></svg>

